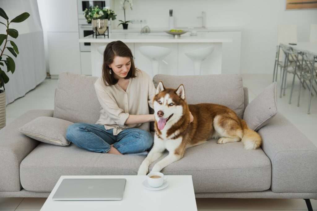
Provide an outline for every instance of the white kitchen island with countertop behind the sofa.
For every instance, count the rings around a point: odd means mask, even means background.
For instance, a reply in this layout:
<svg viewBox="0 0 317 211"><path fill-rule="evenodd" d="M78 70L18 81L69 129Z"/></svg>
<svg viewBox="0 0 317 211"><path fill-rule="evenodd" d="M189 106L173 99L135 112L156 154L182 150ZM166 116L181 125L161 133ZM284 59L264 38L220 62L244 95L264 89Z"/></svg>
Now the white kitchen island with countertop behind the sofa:
<svg viewBox="0 0 317 211"><path fill-rule="evenodd" d="M102 55L97 51L100 46L106 46L107 43L121 40L131 49L135 66L152 75L151 61L143 56L139 47L141 46L159 46L171 49L171 53L164 58L165 62L160 62L159 74L169 75L193 75L194 63L184 53L196 49L214 46L214 51L207 56L201 65L201 75L221 74L222 73L222 45L232 42L232 39L223 38L216 32L198 32L196 36L188 33L182 34L178 38L165 32L153 32L149 34L140 33L110 33L109 39L103 36L93 38L92 35L79 39L79 42L91 43L91 65L92 76L101 76Z"/></svg>

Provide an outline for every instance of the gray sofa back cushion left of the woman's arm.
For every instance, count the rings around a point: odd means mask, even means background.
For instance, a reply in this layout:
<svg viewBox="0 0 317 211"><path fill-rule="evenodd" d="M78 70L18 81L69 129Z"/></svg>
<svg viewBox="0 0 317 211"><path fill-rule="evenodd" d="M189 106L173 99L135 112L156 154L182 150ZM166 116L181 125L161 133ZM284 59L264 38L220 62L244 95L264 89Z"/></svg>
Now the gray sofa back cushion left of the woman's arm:
<svg viewBox="0 0 317 211"><path fill-rule="evenodd" d="M95 124L100 115L94 83L98 77L62 72L55 92L55 118Z"/></svg>

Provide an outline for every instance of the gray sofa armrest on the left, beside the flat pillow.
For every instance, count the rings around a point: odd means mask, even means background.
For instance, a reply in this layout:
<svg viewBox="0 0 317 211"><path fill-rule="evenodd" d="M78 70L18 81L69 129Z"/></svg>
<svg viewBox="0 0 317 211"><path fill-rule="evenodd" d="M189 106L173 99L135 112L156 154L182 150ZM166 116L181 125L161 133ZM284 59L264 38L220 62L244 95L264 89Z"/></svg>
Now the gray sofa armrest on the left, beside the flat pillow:
<svg viewBox="0 0 317 211"><path fill-rule="evenodd" d="M53 117L50 109L25 112L0 130L0 191L20 191L20 163L38 145L17 129L39 116Z"/></svg>

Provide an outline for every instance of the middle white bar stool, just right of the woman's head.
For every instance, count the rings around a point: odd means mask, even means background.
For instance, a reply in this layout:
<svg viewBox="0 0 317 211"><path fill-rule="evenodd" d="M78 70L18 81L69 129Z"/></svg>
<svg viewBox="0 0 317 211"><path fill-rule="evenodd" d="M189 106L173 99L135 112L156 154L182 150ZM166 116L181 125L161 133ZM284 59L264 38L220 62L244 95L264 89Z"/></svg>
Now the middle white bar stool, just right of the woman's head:
<svg viewBox="0 0 317 211"><path fill-rule="evenodd" d="M139 47L139 51L143 56L151 60L152 77L159 73L159 63L161 60L165 64L168 64L163 58L171 53L171 49L159 46L141 46Z"/></svg>

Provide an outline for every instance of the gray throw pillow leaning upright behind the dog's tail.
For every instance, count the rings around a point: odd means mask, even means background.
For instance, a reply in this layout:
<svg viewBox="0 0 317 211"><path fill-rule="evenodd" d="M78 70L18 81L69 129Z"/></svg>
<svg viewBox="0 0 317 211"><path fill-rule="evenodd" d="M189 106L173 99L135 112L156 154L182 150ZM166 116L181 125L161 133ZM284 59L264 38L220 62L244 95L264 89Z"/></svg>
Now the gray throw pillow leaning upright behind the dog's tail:
<svg viewBox="0 0 317 211"><path fill-rule="evenodd" d="M265 126L276 113L276 82L274 82L249 103L244 110L243 119L250 129L258 131L261 127Z"/></svg>

